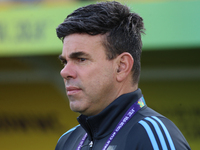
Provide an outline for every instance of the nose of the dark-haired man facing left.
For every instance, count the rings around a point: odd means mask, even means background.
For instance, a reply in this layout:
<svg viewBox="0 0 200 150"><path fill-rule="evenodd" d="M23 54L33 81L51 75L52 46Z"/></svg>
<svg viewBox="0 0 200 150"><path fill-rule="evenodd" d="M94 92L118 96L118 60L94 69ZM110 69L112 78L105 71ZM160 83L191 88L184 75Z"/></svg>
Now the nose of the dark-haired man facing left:
<svg viewBox="0 0 200 150"><path fill-rule="evenodd" d="M60 71L60 75L66 80L69 80L70 78L76 78L75 67L72 64L67 63Z"/></svg>

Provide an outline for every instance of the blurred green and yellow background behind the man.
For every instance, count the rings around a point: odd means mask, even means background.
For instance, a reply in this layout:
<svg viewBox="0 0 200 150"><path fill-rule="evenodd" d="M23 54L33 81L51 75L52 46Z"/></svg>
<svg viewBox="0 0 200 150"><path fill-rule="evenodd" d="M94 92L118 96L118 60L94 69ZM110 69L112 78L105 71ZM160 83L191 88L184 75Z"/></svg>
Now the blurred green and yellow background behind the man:
<svg viewBox="0 0 200 150"><path fill-rule="evenodd" d="M0 0L0 149L54 149L77 125L59 72L55 28L96 1ZM147 105L200 147L200 1L121 1L145 23L139 87Z"/></svg>

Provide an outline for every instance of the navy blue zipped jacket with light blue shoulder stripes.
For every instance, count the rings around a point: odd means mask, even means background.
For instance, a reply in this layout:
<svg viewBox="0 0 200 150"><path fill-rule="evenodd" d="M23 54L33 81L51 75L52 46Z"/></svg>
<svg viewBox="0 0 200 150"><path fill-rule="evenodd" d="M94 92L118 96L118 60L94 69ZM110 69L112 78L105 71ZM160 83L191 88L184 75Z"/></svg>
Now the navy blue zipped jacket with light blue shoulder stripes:
<svg viewBox="0 0 200 150"><path fill-rule="evenodd" d="M102 150L126 111L142 92L121 95L96 116L80 115L80 125L63 134L55 150L76 150L87 132L81 150ZM91 141L93 144L91 144ZM117 133L107 150L190 150L179 129L166 117L144 106Z"/></svg>

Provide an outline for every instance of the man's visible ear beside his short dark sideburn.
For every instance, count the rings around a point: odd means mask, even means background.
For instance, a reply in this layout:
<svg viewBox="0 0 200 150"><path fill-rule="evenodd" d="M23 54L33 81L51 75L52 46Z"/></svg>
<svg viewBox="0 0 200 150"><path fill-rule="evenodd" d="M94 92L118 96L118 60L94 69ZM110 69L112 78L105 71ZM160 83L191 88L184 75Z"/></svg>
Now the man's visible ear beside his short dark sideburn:
<svg viewBox="0 0 200 150"><path fill-rule="evenodd" d="M117 81L122 82L131 74L133 67L133 57L130 53L124 52L117 56Z"/></svg>

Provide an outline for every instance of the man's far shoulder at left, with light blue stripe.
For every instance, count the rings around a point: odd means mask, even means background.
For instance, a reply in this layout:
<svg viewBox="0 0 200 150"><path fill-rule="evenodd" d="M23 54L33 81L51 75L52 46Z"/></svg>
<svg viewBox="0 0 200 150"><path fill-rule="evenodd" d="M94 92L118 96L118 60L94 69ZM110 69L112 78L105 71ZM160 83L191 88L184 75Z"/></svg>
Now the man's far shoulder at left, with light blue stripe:
<svg viewBox="0 0 200 150"><path fill-rule="evenodd" d="M62 150L64 145L71 139L77 138L84 132L80 125L73 127L65 132L58 140L55 150ZM69 138L70 137L70 138Z"/></svg>

